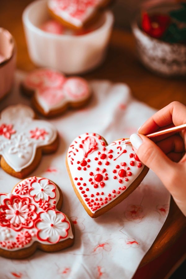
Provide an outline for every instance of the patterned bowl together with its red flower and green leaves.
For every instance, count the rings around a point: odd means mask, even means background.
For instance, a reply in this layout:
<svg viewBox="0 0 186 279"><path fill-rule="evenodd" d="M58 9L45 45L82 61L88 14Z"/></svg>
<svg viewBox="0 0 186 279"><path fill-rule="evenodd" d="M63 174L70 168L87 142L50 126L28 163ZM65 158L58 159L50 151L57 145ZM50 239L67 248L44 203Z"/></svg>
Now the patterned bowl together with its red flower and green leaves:
<svg viewBox="0 0 186 279"><path fill-rule="evenodd" d="M132 23L141 63L165 77L186 76L186 3L149 7Z"/></svg>

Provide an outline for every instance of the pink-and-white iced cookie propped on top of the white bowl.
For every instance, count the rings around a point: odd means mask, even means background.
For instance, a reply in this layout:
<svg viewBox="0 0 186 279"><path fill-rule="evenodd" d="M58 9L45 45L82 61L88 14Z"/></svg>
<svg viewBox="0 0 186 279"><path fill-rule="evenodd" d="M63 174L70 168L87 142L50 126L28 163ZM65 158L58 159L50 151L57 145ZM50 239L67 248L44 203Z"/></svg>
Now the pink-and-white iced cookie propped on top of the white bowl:
<svg viewBox="0 0 186 279"><path fill-rule="evenodd" d="M80 29L96 18L100 7L107 6L110 0L48 0L47 6L52 18L60 23Z"/></svg>

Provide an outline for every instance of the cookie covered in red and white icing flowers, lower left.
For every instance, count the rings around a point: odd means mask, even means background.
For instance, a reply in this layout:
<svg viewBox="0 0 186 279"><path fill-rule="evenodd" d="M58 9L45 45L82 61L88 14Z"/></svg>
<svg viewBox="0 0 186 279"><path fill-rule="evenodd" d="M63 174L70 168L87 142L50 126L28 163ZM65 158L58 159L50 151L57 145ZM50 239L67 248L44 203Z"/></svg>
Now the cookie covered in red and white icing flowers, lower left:
<svg viewBox="0 0 186 279"><path fill-rule="evenodd" d="M37 248L59 251L74 242L74 227L62 212L62 193L52 181L29 177L11 194L0 193L0 256L24 259Z"/></svg>

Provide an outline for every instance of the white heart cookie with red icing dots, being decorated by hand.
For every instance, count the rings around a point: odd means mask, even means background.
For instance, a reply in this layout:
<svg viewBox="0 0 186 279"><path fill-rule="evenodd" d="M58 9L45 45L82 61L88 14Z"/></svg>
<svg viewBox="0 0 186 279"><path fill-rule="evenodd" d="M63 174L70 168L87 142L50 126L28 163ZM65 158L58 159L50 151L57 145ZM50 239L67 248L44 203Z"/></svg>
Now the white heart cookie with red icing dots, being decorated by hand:
<svg viewBox="0 0 186 279"><path fill-rule="evenodd" d="M95 133L85 133L73 140L66 166L74 191L92 218L125 199L148 172L125 139L108 145Z"/></svg>

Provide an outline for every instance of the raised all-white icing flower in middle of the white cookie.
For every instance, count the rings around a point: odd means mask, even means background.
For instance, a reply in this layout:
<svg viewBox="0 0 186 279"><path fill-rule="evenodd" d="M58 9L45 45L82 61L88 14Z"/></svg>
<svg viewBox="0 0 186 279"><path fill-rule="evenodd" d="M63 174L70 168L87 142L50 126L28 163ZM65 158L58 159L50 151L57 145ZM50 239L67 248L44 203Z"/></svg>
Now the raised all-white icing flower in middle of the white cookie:
<svg viewBox="0 0 186 279"><path fill-rule="evenodd" d="M24 154L29 153L27 147L32 143L28 137L24 135L24 133L19 134L13 138L14 145L12 145L8 153L14 154L18 153L19 158L24 158Z"/></svg>

